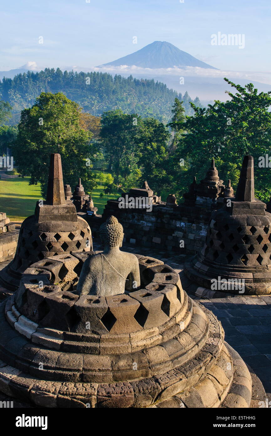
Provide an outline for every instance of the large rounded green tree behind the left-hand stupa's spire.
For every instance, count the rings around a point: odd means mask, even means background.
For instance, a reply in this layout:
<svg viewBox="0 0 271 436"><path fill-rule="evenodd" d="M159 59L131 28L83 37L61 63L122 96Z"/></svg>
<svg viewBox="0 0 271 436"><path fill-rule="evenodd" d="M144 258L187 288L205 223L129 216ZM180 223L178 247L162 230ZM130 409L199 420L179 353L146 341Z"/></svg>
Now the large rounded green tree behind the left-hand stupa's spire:
<svg viewBox="0 0 271 436"><path fill-rule="evenodd" d="M64 183L76 185L81 177L87 191L97 186L91 173L92 134L81 128L79 114L78 104L61 92L42 92L34 106L21 113L13 147L17 170L30 175L30 184L41 182L43 195L51 153L61 154Z"/></svg>

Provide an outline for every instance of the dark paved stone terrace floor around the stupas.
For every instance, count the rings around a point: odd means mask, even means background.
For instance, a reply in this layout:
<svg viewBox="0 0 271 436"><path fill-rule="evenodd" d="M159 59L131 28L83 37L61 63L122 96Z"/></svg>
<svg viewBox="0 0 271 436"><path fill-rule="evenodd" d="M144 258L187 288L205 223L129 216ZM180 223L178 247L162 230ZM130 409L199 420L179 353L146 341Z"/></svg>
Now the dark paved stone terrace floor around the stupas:
<svg viewBox="0 0 271 436"><path fill-rule="evenodd" d="M101 247L95 242L94 249L100 250ZM127 243L123 244L122 250L160 259L177 272L181 272L186 260L192 257ZM210 309L221 321L225 341L254 370L271 400L271 296L202 299L189 295Z"/></svg>

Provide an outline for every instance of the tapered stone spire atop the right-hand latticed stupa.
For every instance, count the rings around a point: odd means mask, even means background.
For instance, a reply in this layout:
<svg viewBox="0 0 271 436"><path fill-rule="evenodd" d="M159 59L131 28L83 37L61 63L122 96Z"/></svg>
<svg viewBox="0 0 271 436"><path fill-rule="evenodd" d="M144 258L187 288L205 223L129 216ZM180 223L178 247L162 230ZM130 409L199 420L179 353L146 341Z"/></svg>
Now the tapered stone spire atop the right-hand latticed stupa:
<svg viewBox="0 0 271 436"><path fill-rule="evenodd" d="M245 156L236 190L235 201L255 201L254 198L254 160Z"/></svg>

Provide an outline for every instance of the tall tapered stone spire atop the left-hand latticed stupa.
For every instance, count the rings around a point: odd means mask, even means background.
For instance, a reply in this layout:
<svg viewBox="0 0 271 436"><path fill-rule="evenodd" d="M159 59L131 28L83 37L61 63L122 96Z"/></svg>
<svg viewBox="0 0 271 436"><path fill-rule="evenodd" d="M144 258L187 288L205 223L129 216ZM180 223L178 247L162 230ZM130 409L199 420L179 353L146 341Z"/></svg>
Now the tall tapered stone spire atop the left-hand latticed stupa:
<svg viewBox="0 0 271 436"><path fill-rule="evenodd" d="M66 204L61 156L59 153L51 154L46 203L51 205Z"/></svg>

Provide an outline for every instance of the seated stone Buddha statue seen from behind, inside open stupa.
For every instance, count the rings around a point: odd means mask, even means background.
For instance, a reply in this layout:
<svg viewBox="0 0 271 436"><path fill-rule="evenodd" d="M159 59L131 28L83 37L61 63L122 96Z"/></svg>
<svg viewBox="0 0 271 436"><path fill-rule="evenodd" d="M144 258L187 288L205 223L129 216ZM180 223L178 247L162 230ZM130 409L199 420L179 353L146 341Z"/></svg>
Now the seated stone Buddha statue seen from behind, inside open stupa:
<svg viewBox="0 0 271 436"><path fill-rule="evenodd" d="M84 262L77 285L79 295L109 296L139 288L139 262L135 255L120 251L123 236L122 225L114 216L101 225L104 251Z"/></svg>

